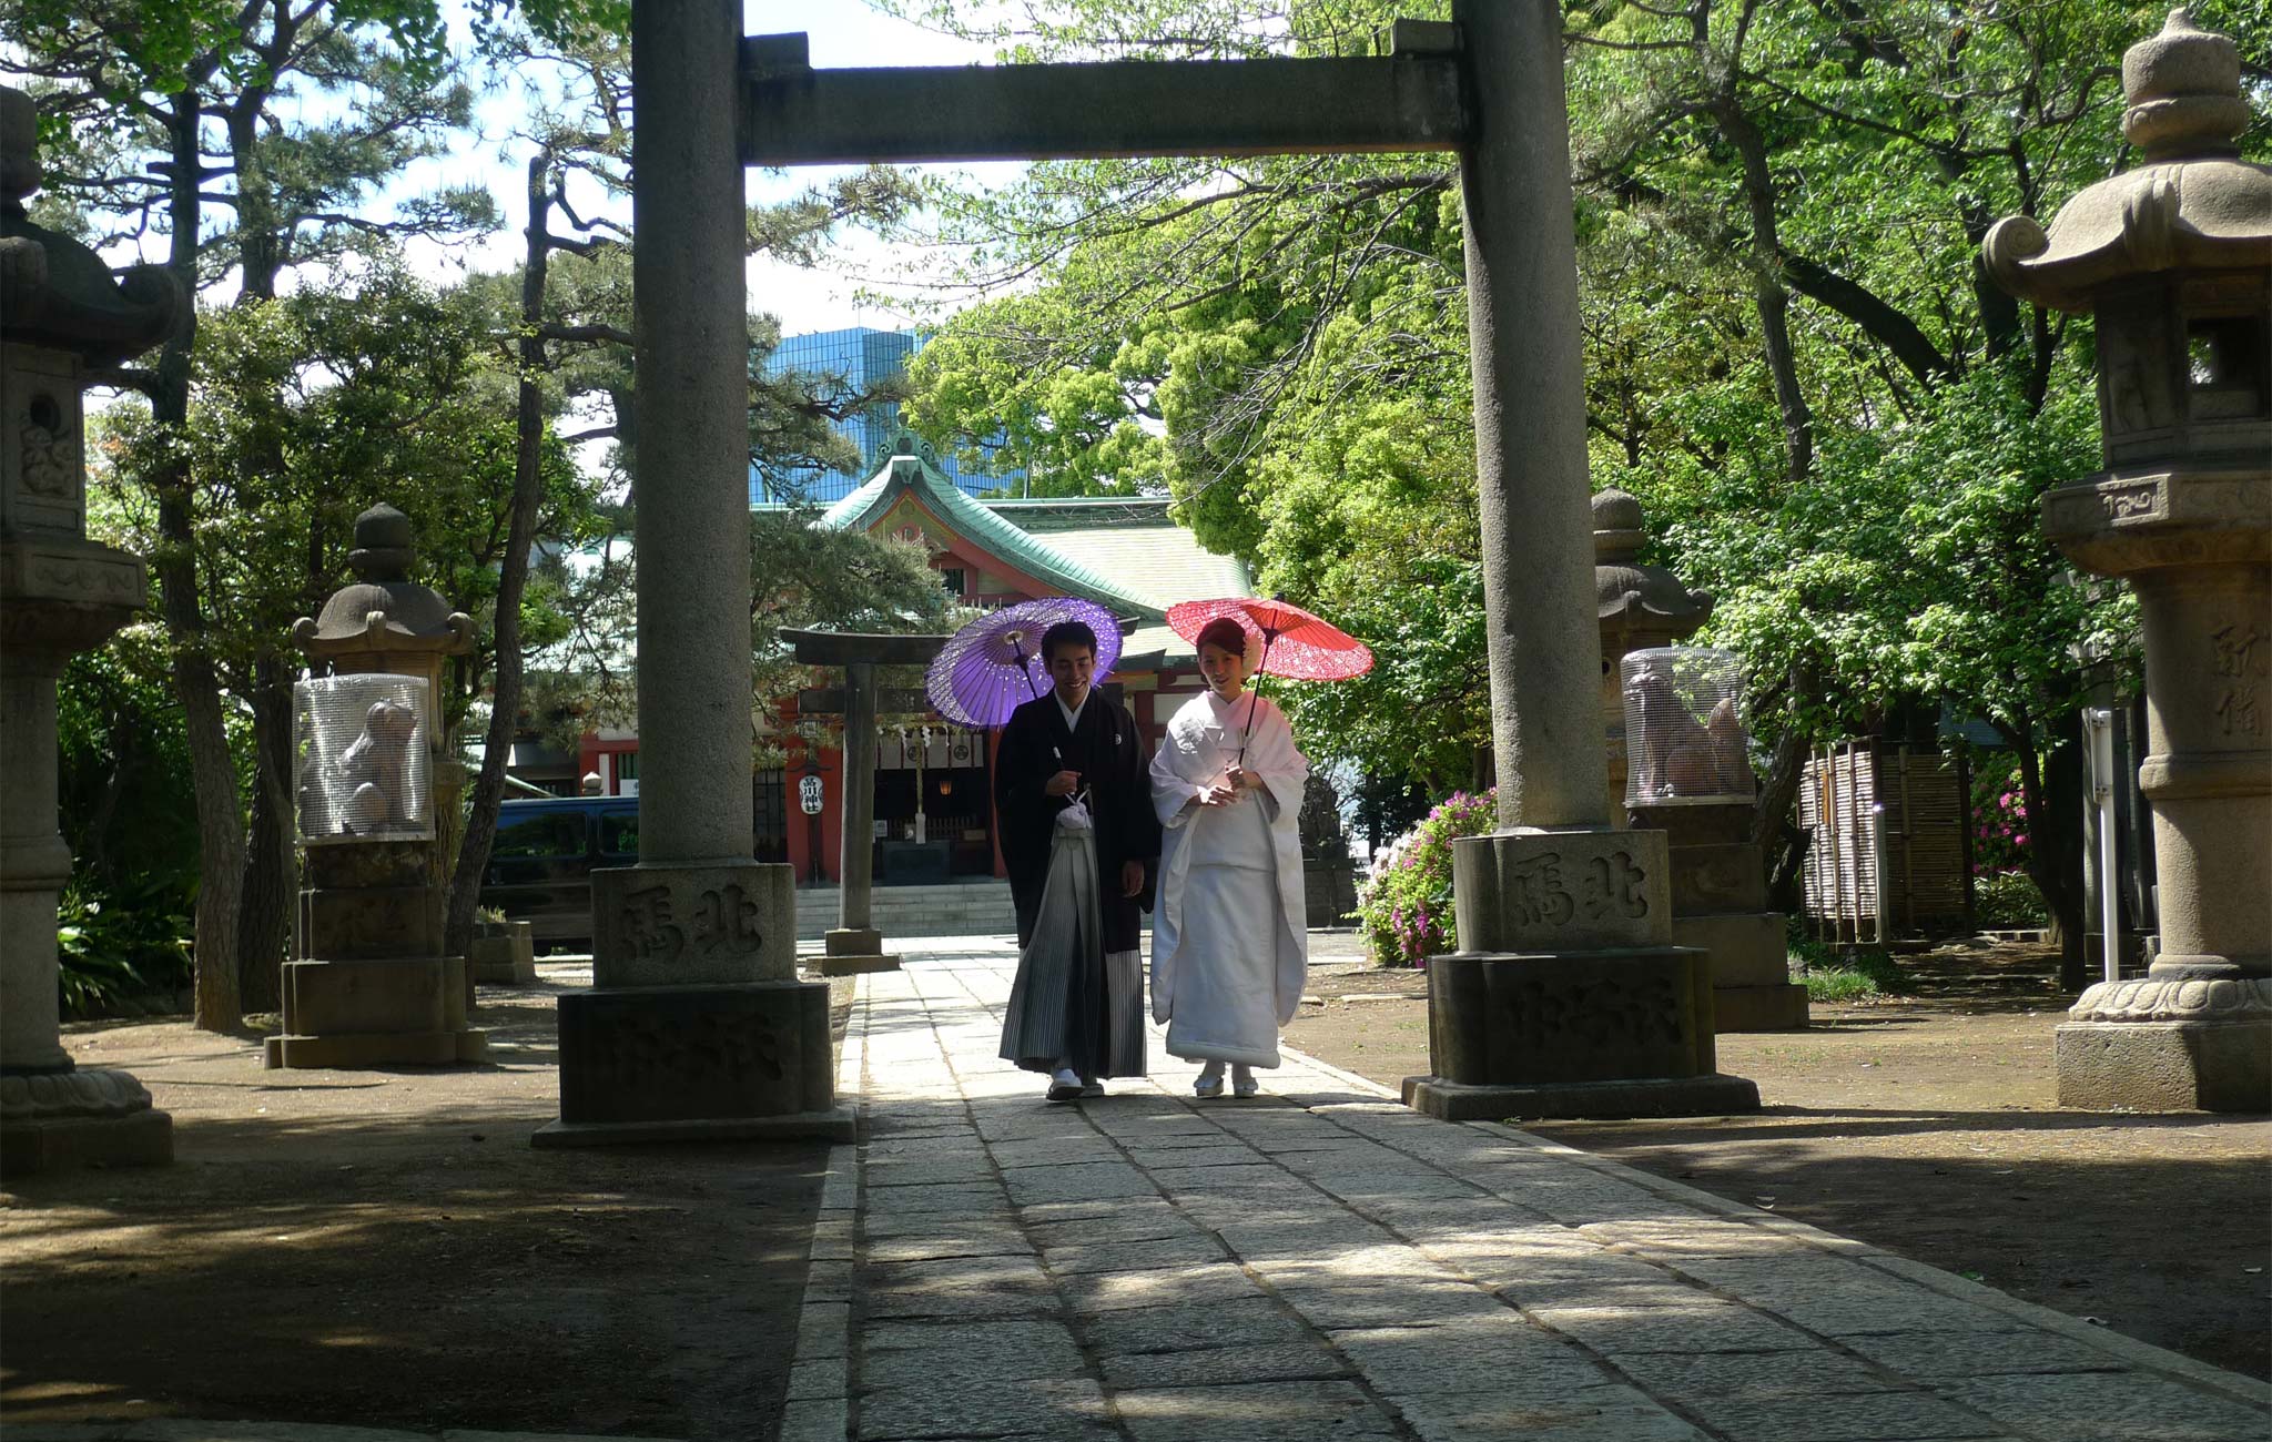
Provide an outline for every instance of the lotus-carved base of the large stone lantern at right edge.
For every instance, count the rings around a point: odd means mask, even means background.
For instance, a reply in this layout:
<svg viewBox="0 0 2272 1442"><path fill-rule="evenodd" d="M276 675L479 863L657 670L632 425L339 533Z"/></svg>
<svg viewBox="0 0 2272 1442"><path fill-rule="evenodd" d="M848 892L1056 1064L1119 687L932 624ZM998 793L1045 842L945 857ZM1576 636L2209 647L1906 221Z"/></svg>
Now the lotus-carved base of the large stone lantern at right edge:
<svg viewBox="0 0 2272 1442"><path fill-rule="evenodd" d="M2272 979L2102 981L2054 1031L2052 1054L2061 1106L2267 1113Z"/></svg>

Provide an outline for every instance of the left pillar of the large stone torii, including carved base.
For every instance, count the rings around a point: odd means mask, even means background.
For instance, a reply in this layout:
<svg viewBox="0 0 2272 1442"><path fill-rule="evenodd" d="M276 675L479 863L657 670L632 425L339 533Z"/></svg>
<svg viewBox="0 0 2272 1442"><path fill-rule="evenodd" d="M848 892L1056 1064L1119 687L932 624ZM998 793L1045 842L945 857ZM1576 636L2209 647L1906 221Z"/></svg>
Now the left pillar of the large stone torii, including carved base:
<svg viewBox="0 0 2272 1442"><path fill-rule="evenodd" d="M852 1140L795 874L752 858L738 48L732 0L632 7L638 865L591 874L593 990L561 997L538 1147Z"/></svg>

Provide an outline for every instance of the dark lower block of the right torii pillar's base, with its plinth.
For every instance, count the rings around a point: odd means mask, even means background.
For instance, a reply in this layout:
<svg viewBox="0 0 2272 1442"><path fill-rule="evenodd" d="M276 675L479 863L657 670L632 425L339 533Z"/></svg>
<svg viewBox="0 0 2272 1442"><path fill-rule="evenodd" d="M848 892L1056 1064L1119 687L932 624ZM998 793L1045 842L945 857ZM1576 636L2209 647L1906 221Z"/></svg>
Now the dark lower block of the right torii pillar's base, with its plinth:
<svg viewBox="0 0 2272 1442"><path fill-rule="evenodd" d="M1404 1101L1454 1122L1759 1110L1715 1070L1711 965L1695 947L1429 961L1429 1065Z"/></svg>

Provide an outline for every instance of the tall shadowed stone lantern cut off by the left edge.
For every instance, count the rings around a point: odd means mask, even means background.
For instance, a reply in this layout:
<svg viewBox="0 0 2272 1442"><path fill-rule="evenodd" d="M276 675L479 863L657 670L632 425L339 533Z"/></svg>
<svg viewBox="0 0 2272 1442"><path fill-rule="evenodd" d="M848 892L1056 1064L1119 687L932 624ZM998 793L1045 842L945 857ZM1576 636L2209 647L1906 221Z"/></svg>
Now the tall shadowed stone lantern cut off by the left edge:
<svg viewBox="0 0 2272 1442"><path fill-rule="evenodd" d="M134 1076L61 1047L55 897L55 684L143 606L134 556L86 538L80 391L170 336L189 295L157 266L125 284L84 245L32 225L36 114L0 86L0 1172L168 1163L173 1120Z"/></svg>

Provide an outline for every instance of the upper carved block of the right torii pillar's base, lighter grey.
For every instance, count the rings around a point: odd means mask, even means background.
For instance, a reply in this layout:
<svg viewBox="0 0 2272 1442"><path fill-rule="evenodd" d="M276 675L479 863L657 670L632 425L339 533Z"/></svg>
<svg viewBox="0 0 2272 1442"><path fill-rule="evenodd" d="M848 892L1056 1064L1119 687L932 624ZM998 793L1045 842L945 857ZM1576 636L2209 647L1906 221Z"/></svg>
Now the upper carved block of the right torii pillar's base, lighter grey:
<svg viewBox="0 0 2272 1442"><path fill-rule="evenodd" d="M1456 840L1461 951L1663 947L1672 940L1665 870L1663 831L1497 831Z"/></svg>

